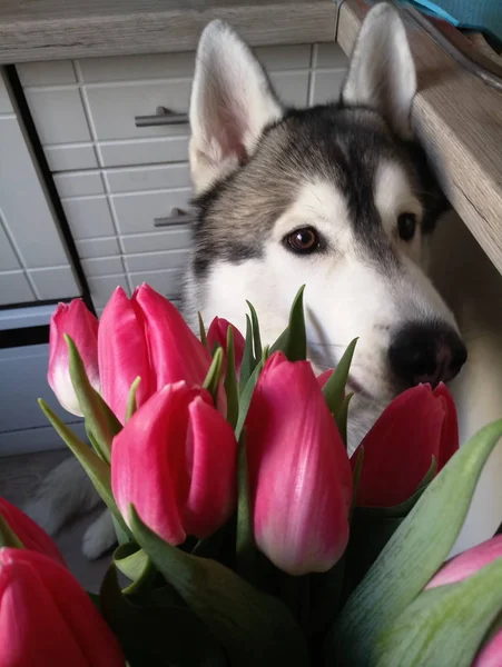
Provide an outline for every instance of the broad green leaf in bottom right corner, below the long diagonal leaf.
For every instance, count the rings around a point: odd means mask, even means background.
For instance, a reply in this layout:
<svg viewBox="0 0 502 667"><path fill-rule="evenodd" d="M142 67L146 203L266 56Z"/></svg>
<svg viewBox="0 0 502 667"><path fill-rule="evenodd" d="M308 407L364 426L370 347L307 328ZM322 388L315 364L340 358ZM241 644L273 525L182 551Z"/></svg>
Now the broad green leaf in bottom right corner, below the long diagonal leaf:
<svg viewBox="0 0 502 667"><path fill-rule="evenodd" d="M502 610L502 558L459 584L424 590L375 646L377 667L470 667Z"/></svg>

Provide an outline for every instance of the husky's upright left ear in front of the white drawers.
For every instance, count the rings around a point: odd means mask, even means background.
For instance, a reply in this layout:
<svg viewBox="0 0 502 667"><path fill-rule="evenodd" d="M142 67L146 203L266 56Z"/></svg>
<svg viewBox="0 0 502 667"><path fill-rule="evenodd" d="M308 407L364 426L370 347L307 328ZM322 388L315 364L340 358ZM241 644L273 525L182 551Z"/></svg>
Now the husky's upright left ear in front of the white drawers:
<svg viewBox="0 0 502 667"><path fill-rule="evenodd" d="M283 116L249 47L223 21L204 30L190 100L190 171L197 192L253 152L264 128Z"/></svg>

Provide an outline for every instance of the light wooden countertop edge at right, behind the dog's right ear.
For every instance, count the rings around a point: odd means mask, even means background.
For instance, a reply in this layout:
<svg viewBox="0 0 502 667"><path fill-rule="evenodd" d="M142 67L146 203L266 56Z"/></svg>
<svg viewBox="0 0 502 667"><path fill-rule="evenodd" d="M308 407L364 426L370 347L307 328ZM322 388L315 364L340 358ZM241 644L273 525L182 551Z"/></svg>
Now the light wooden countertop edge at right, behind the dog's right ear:
<svg viewBox="0 0 502 667"><path fill-rule="evenodd" d="M346 0L337 40L348 54L367 11ZM406 26L419 71L413 122L450 202L502 273L502 96Z"/></svg>

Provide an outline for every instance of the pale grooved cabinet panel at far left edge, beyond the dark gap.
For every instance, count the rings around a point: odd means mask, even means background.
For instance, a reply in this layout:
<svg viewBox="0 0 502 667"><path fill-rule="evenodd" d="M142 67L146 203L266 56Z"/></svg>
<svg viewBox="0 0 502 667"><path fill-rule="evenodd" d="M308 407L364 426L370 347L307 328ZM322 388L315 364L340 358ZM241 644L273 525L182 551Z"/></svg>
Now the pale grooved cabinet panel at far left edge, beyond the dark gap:
<svg viewBox="0 0 502 667"><path fill-rule="evenodd" d="M0 307L79 293L29 140L0 74Z"/></svg>

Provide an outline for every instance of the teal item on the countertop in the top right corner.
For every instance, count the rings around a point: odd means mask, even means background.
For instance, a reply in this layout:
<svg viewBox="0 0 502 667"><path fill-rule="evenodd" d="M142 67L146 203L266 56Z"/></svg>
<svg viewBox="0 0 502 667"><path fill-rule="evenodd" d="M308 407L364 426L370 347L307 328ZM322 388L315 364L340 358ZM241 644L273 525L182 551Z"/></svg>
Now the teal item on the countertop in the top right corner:
<svg viewBox="0 0 502 667"><path fill-rule="evenodd" d="M453 26L490 32L502 41L502 0L411 0L411 4Z"/></svg>

